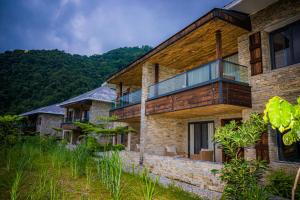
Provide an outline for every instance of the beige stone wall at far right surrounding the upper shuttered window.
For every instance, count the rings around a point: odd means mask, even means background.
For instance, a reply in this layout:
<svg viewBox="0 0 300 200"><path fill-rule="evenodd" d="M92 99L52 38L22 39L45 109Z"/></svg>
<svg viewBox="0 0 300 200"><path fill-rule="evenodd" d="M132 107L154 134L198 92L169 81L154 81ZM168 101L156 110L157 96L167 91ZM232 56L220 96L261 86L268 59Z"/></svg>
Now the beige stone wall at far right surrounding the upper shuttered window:
<svg viewBox="0 0 300 200"><path fill-rule="evenodd" d="M281 96L295 102L300 96L300 63L271 69L270 31L281 28L300 19L300 1L280 0L277 3L251 16L252 32L238 38L239 63L248 66L249 84L252 93L252 109L243 110L243 119L252 112L262 113L267 101L273 96ZM249 35L260 31L263 73L251 76ZM281 162L278 158L277 142L274 133L269 133L270 166L295 172L298 163ZM246 149L245 156L255 158L254 148Z"/></svg>

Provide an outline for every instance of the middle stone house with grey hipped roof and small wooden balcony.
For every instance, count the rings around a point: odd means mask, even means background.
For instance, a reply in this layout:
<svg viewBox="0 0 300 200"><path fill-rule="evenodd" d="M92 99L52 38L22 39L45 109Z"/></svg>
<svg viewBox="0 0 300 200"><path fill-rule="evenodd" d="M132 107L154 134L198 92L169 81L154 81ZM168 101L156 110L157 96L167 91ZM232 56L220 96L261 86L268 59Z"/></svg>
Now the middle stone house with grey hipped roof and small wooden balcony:
<svg viewBox="0 0 300 200"><path fill-rule="evenodd" d="M111 109L114 99L114 89L99 87L60 103L59 106L64 109L64 121L61 124L63 138L66 138L71 144L76 144L82 132L80 128L73 123L101 123L98 117L109 116L109 110ZM104 138L102 138L102 140L105 140L104 142L110 142Z"/></svg>

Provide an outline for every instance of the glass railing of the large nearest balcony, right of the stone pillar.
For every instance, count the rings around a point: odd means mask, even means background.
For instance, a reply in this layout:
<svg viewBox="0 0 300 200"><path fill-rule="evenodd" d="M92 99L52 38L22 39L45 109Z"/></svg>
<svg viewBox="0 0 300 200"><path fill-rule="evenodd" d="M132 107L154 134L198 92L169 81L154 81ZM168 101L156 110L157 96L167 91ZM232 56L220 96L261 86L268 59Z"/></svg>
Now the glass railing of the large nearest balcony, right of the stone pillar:
<svg viewBox="0 0 300 200"><path fill-rule="evenodd" d="M247 83L248 70L247 67L236 63L216 60L150 86L148 98L184 90L218 78Z"/></svg>

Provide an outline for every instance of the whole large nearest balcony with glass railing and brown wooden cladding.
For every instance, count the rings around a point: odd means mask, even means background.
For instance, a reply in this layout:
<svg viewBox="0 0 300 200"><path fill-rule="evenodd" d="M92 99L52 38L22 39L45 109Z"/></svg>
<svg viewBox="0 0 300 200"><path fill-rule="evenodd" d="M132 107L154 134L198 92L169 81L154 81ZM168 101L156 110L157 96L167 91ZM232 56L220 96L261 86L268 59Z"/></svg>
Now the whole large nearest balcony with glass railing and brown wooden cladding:
<svg viewBox="0 0 300 200"><path fill-rule="evenodd" d="M178 74L149 87L146 114L158 114L199 108L205 114L240 110L251 107L251 88L247 67L215 60ZM224 106L226 105L226 106ZM190 115L192 112L181 112ZM204 114L202 112L202 114Z"/></svg>

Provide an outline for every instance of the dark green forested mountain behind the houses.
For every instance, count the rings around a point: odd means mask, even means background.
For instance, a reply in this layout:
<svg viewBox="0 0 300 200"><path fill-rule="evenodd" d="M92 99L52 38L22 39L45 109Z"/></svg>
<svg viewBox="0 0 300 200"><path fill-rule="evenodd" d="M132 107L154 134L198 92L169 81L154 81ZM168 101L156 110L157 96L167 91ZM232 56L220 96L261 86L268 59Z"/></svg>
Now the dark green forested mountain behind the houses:
<svg viewBox="0 0 300 200"><path fill-rule="evenodd" d="M59 50L1 53L0 114L19 114L99 87L109 75L150 49L125 47L93 56Z"/></svg>

